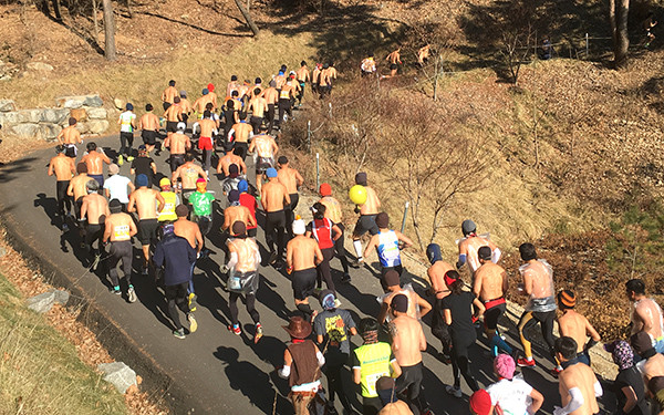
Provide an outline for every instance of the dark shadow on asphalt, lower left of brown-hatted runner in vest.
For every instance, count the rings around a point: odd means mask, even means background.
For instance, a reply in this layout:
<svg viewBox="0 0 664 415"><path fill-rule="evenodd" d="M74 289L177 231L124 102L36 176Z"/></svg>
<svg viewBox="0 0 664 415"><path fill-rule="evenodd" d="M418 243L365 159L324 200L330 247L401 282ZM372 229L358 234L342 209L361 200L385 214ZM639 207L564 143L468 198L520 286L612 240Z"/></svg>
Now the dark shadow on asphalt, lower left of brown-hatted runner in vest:
<svg viewBox="0 0 664 415"><path fill-rule="evenodd" d="M274 406L277 407L277 414L293 413L291 404L272 386L270 375L249 362L238 361L239 353L237 350L219 346L212 355L224 362L224 372L228 377L230 387L247 396L249 402L258 407L261 413L272 414Z"/></svg>

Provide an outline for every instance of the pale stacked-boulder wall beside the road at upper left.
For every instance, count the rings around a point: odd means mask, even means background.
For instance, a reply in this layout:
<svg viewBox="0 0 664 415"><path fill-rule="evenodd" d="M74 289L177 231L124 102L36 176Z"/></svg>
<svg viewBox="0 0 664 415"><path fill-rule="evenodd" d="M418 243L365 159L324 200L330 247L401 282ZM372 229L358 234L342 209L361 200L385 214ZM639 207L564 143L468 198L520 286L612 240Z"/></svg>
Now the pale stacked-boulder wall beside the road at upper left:
<svg viewBox="0 0 664 415"><path fill-rule="evenodd" d="M108 112L98 95L61 96L55 107L17 110L11 100L0 100L2 132L21 138L55 139L70 116L79 121L81 134L100 135L108 129Z"/></svg>

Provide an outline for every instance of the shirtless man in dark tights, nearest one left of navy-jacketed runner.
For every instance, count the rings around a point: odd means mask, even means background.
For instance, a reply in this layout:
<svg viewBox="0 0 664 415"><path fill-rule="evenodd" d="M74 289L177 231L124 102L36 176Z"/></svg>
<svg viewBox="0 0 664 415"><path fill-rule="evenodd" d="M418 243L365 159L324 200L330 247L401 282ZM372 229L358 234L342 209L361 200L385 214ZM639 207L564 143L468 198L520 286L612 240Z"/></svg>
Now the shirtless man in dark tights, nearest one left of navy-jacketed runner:
<svg viewBox="0 0 664 415"><path fill-rule="evenodd" d="M110 242L107 270L111 278L111 292L120 295L120 279L117 278L117 263L122 260L122 269L127 281L127 300L136 301L136 292L132 286L132 258L133 249L132 237L136 235L136 224L134 219L122 211L122 204L117 199L108 203L111 215L104 221L104 243Z"/></svg>

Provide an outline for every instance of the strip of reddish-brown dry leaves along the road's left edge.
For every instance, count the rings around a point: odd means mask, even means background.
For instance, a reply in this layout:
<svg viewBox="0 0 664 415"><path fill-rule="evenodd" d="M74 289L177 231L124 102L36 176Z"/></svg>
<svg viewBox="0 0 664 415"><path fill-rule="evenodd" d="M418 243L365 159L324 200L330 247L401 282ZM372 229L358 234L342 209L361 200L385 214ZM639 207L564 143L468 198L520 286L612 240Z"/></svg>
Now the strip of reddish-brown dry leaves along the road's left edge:
<svg viewBox="0 0 664 415"><path fill-rule="evenodd" d="M98 342L115 361L125 362L141 374L143 390L151 396L157 396L158 404L164 405L173 414L206 413L205 407L190 396L183 385L176 384L170 375L122 330L120 324L97 309L96 304L59 269L56 263L22 239L17 232L15 224L1 218L0 227L7 231L7 242L25 259L31 268L39 270L48 283L70 291L72 295L66 307L81 309L77 320L96 335Z"/></svg>

